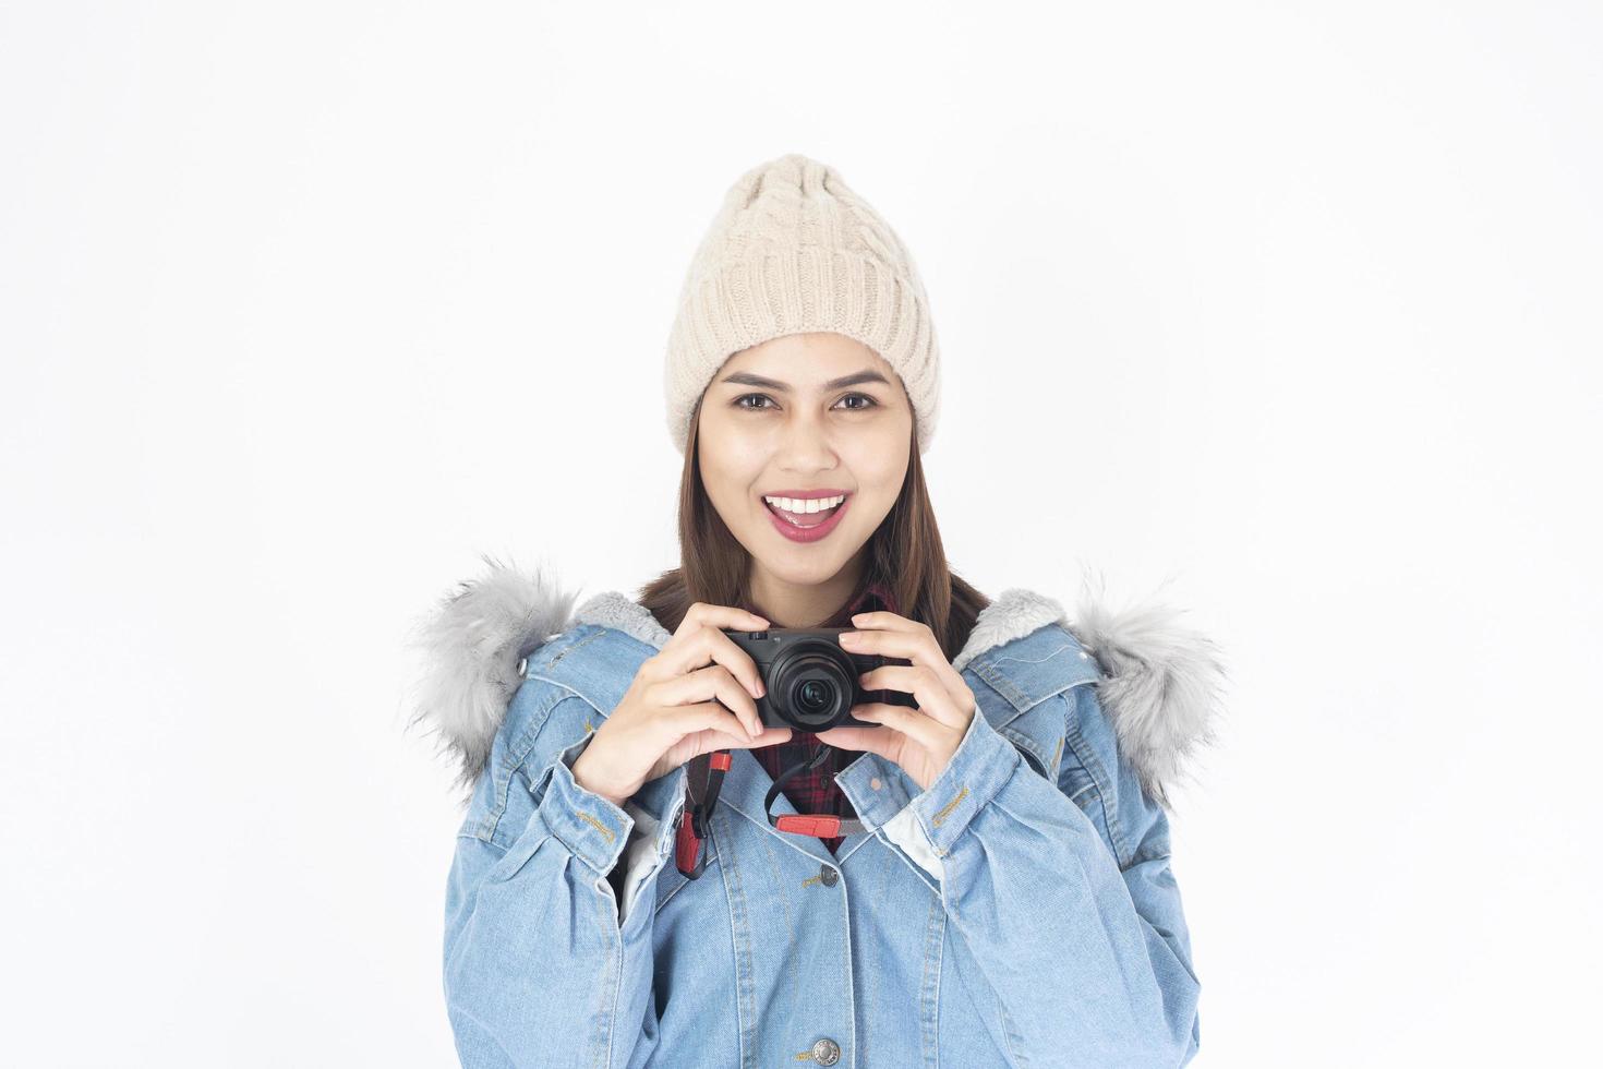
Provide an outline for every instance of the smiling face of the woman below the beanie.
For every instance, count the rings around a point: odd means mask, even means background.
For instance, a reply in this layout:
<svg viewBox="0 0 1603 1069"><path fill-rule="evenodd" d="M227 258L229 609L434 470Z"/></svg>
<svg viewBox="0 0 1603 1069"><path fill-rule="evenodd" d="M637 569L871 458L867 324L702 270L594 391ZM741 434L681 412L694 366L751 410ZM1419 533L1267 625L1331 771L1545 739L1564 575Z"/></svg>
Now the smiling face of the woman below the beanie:
<svg viewBox="0 0 1603 1069"><path fill-rule="evenodd" d="M822 601L827 615L851 593L861 551L907 476L912 407L901 378L845 335L773 338L718 369L696 434L707 494L752 555L758 604L774 619L785 601ZM810 530L776 516L765 495L846 500L798 516Z"/></svg>

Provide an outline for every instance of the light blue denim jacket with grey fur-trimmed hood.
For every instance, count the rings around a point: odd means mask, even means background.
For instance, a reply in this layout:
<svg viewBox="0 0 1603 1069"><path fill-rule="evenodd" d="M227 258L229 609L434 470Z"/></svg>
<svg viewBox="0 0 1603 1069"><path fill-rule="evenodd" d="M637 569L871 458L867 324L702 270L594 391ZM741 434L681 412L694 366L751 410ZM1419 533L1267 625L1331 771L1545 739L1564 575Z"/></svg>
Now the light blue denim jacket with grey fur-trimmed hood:
<svg viewBox="0 0 1603 1069"><path fill-rule="evenodd" d="M572 764L668 639L630 598L491 564L430 617L417 713L471 789L446 881L463 1066L1180 1066L1199 982L1164 787L1223 670L1167 609L1011 588L954 659L978 700L928 790L861 753L867 832L774 830L733 750L688 880L681 766L619 808ZM846 756L843 756L846 760ZM795 809L781 795L776 814ZM624 865L622 901L608 873Z"/></svg>

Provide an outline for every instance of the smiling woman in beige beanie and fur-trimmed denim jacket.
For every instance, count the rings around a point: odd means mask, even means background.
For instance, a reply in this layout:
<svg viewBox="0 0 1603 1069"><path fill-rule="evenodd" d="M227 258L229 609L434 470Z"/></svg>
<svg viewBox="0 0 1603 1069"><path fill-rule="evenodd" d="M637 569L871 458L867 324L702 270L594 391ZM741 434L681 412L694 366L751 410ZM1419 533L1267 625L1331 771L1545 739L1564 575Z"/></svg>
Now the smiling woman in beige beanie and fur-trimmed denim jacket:
<svg viewBox="0 0 1603 1069"><path fill-rule="evenodd" d="M444 939L462 1063L1183 1064L1199 986L1162 806L1210 734L1212 644L951 572L925 292L832 168L747 171L680 303L680 567L572 611L491 561L428 623L420 718L471 787ZM763 723L736 638L816 627L890 660L858 678L885 700Z"/></svg>

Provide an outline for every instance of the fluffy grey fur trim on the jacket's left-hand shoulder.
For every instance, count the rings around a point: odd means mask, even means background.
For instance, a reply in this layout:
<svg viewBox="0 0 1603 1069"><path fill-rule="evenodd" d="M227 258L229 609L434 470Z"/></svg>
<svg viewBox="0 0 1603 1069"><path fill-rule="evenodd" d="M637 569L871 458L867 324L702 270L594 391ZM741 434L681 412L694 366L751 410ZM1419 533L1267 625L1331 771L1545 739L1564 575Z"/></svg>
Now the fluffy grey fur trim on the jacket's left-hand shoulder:
<svg viewBox="0 0 1603 1069"><path fill-rule="evenodd" d="M423 724L471 789L489 760L507 705L523 684L521 662L566 630L575 593L555 577L526 575L483 556L479 579L462 580L414 627L420 654L409 726Z"/></svg>

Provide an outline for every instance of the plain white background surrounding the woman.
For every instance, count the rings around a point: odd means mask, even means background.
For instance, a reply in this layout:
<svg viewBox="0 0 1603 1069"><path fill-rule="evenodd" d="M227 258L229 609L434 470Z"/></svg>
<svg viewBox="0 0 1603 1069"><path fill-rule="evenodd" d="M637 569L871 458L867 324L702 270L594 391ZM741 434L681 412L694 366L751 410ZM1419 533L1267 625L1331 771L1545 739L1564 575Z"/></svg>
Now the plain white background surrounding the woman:
<svg viewBox="0 0 1603 1069"><path fill-rule="evenodd" d="M1302 8L6 3L0 1061L452 1064L407 630L676 564L790 151L923 272L952 566L1226 651L1194 1064L1589 1053L1598 8Z"/></svg>

